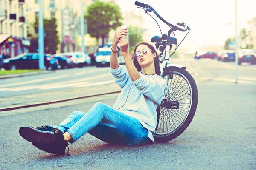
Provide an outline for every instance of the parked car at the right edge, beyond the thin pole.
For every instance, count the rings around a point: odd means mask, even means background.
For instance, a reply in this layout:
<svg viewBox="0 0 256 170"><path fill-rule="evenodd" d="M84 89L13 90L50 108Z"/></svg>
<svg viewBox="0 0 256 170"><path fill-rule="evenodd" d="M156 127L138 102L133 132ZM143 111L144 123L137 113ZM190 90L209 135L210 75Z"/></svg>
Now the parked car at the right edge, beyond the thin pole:
<svg viewBox="0 0 256 170"><path fill-rule="evenodd" d="M241 65L243 62L250 63L251 65L256 64L256 53L252 49L242 49L239 51L238 64Z"/></svg>

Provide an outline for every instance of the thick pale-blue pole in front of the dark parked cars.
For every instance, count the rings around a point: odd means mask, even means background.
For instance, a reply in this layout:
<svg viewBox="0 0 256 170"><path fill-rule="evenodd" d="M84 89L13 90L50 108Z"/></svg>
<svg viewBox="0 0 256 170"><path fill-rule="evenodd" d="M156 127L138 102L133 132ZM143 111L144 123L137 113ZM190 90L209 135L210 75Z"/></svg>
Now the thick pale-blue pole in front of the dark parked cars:
<svg viewBox="0 0 256 170"><path fill-rule="evenodd" d="M44 21L43 21L43 4L39 0L39 26L38 26L38 44L39 44L39 69L44 69Z"/></svg>

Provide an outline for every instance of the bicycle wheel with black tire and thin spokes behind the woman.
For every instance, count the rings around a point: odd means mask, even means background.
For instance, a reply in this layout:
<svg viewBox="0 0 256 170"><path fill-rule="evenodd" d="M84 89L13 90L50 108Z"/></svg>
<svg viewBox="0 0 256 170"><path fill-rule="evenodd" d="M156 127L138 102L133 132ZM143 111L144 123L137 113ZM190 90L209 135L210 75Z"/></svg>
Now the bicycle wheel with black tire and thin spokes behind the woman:
<svg viewBox="0 0 256 170"><path fill-rule="evenodd" d="M168 118L169 121L170 121L169 124L173 125L173 123L175 123L175 122L174 122L174 120L172 118L172 116L174 116L174 115L172 115L172 114L175 113L177 115L177 113L175 112L175 111L177 111L176 110L177 108L169 108L170 105L168 105L168 102L170 102L170 101L174 102L174 100L175 100L175 96L173 96L174 93L170 93L170 91L176 92L176 94L180 93L180 89L174 89L174 87L171 87L172 86L172 80L173 80L172 79L171 80L171 84L170 84L171 88L170 87L168 88L168 85L169 85L168 83L167 83L167 88L166 88L166 93L169 93L171 95L171 98L169 96L167 96L169 94L165 93L164 99L166 99L167 102L166 103L162 103L157 108L157 116L158 116L159 121L157 121L157 126L158 127L156 128L156 130L154 132L154 135L153 135L155 142L168 142L168 141L171 141L172 139L175 139L178 136L180 136L180 134L183 133L186 130L186 128L189 126L189 124L191 123L191 121L192 121L192 119L193 119L193 117L195 115L195 111L197 109L197 105L198 105L198 89L197 89L197 85L195 83L194 78L191 76L191 74L189 74L188 71L186 71L184 69L174 68L174 67L167 67L166 68L166 76L169 76L169 78L171 76L171 78L172 78L172 75L173 76L177 75L177 76L182 77L186 81L186 83L188 84L188 87L189 87L189 92L188 92L189 94L188 94L188 96L190 96L190 98L191 98L190 99L190 104L189 104L189 110L187 111L186 116L183 119L183 121L180 123L180 125L177 125L177 127L173 126L172 130L170 128L170 130L171 130L170 132L162 133L162 134L160 133L161 128L164 129L164 127L161 127L161 126L163 126L163 124L167 124L168 123L167 121L163 122L161 120L163 120L163 119L167 120L167 118ZM177 77L176 77L176 79L177 79ZM177 84L176 84L175 87L182 88L183 86L180 87L180 85L177 86ZM185 110L186 110L186 104L187 104L187 97L186 97L186 102L185 102L185 104L183 106L183 109L185 109ZM166 107L168 107L168 108L166 108ZM175 106L172 106L172 107L175 107ZM180 106L179 106L179 108L180 108ZM168 113L164 113L164 112L168 112ZM179 113L180 113L180 111L178 112L178 114ZM170 119L170 117L171 117L171 119ZM172 120L172 122L171 122L171 120ZM175 118L175 120L177 122L176 118ZM167 128L167 130L168 130L168 128Z"/></svg>

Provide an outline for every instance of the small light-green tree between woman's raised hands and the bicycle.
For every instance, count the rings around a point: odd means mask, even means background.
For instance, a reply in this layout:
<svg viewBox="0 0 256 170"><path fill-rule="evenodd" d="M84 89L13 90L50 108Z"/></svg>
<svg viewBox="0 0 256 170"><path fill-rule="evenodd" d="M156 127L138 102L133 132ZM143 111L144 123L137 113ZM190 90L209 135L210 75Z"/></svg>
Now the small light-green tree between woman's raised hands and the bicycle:
<svg viewBox="0 0 256 170"><path fill-rule="evenodd" d="M133 46L135 47L138 42L143 41L143 30L141 28L138 28L135 26L129 26L128 32L129 32L129 46L130 47L133 47ZM134 49L134 48L132 48L132 49Z"/></svg>

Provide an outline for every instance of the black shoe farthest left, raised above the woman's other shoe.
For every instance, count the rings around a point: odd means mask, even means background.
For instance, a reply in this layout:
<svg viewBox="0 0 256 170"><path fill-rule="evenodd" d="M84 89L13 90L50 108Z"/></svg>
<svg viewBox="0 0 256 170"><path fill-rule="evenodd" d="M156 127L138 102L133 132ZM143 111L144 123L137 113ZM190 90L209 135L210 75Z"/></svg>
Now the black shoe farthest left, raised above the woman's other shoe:
<svg viewBox="0 0 256 170"><path fill-rule="evenodd" d="M34 143L51 144L55 141L55 129L45 125L41 127L20 127L20 136L25 140Z"/></svg>

